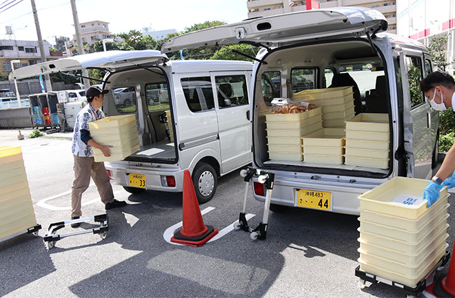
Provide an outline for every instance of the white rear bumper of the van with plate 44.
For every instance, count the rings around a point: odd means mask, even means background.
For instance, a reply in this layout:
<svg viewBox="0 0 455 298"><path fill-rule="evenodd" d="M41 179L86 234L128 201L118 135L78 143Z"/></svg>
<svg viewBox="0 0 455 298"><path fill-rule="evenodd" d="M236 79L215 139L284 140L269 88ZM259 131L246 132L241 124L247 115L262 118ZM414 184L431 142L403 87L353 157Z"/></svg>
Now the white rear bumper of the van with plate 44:
<svg viewBox="0 0 455 298"><path fill-rule="evenodd" d="M257 178L253 178L253 182L257 182ZM381 181L383 182L383 181ZM272 204L279 204L283 206L297 206L296 204L296 190L305 189L310 191L325 191L331 193L331 212L359 215L358 206L359 200L358 195L369 191L370 189L381 184L367 184L367 183L349 183L349 182L330 182L322 180L311 180L311 182L292 182L289 179L280 180L275 175L274 187L272 190ZM265 201L265 196L256 195L254 193L254 186L252 186L253 195L256 200L261 202Z"/></svg>

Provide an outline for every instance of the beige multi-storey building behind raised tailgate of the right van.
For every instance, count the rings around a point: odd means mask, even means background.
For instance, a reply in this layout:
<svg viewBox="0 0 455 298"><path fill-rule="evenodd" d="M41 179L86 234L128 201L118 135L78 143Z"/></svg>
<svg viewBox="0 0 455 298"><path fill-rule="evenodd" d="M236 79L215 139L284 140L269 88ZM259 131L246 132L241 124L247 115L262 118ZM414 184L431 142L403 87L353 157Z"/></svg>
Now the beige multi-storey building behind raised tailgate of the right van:
<svg viewBox="0 0 455 298"><path fill-rule="evenodd" d="M310 1L310 0L308 0ZM363 6L374 8L382 12L387 18L389 27L387 32L396 33L396 1L365 1L365 0L319 0L321 8L333 8L337 6ZM288 12L300 12L307 10L305 0L248 0L248 17L267 17L274 14L285 14Z"/></svg>

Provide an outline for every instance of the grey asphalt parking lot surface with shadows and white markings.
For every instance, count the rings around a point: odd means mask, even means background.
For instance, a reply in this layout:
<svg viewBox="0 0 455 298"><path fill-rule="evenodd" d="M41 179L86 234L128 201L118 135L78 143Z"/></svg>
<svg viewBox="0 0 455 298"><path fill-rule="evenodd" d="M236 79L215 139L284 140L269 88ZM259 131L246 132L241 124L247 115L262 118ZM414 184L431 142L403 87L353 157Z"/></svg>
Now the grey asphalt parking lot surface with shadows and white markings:
<svg viewBox="0 0 455 298"><path fill-rule="evenodd" d="M49 224L70 217L70 136L17 140L17 131L0 130L1 145L22 147L34 211L43 226L38 237L0 242L1 297L405 297L385 284L358 288L356 216L308 209L271 212L266 240L229 231L194 248L170 244L163 236L182 220L181 193L131 195L114 185L117 200L128 206L107 212L107 237L66 237L48 251L43 236ZM213 200L200 205L205 224L229 229L239 217L244 188L239 171L220 178ZM255 227L263 203L252 199L251 190L249 197L247 213L255 215L250 220ZM454 208L449 206L450 214ZM93 185L83 194L82 210L83 216L106 212ZM449 217L449 251L453 222ZM84 223L59 233L92 227Z"/></svg>

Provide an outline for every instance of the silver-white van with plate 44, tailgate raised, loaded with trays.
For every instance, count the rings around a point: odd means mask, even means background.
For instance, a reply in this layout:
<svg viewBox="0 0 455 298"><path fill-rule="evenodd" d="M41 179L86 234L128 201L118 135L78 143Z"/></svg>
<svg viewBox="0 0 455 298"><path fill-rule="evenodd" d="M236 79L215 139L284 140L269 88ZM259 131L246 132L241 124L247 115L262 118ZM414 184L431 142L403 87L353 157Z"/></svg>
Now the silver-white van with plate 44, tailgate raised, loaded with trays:
<svg viewBox="0 0 455 298"><path fill-rule="evenodd" d="M295 206L358 215L358 195L395 177L430 178L436 165L439 116L418 83L432 72L425 46L387 29L370 8L330 8L281 14L177 36L161 52L201 45L261 46L252 78L253 166L272 171L272 211ZM305 89L352 86L355 114L388 118L386 169L346 164L271 160L265 114L272 98L292 98ZM386 162L387 164L387 162ZM265 200L254 180L254 196ZM299 200L320 198L310 204ZM305 203L302 203L305 201Z"/></svg>

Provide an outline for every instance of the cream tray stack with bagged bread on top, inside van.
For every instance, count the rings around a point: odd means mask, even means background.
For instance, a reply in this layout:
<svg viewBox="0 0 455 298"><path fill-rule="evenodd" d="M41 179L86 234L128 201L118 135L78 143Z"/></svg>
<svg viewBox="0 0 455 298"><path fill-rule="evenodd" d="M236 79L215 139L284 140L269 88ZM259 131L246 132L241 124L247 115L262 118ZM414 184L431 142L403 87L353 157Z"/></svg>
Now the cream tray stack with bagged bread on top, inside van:
<svg viewBox="0 0 455 298"><path fill-rule="evenodd" d="M265 123L269 158L301 161L302 136L322 129L321 107L299 114L267 114Z"/></svg>

